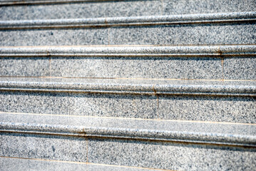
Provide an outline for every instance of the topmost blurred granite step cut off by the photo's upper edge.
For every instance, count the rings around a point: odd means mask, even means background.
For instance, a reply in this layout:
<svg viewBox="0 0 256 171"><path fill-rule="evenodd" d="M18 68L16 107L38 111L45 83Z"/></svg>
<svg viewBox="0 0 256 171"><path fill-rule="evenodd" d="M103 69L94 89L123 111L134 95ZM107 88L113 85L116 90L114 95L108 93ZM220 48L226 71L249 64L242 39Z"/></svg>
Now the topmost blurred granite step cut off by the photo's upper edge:
<svg viewBox="0 0 256 171"><path fill-rule="evenodd" d="M0 20L76 19L255 11L254 0L1 0Z"/></svg>

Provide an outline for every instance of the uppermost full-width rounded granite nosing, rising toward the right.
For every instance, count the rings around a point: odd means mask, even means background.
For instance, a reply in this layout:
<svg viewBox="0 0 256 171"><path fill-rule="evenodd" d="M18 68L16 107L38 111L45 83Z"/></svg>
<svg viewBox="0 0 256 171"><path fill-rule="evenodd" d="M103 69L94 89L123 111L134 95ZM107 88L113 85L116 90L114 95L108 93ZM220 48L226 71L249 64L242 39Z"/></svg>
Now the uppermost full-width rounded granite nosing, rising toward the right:
<svg viewBox="0 0 256 171"><path fill-rule="evenodd" d="M216 14L182 14L170 16L126 16L91 19L48 19L0 21L0 29L8 28L73 28L95 26L140 26L165 24L200 24L219 22L255 21L256 12L233 12Z"/></svg>

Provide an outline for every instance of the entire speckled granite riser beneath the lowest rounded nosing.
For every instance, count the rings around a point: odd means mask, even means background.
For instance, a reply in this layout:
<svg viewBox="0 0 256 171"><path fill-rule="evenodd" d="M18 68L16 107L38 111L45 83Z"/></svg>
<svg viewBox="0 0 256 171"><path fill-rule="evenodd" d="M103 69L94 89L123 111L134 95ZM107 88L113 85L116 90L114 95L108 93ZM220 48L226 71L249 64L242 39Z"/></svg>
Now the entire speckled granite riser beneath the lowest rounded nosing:
<svg viewBox="0 0 256 171"><path fill-rule="evenodd" d="M1 142L0 155L8 157L170 170L229 170L234 167L253 170L256 167L256 151L250 147L11 133L2 133ZM10 142L13 145L9 145Z"/></svg>

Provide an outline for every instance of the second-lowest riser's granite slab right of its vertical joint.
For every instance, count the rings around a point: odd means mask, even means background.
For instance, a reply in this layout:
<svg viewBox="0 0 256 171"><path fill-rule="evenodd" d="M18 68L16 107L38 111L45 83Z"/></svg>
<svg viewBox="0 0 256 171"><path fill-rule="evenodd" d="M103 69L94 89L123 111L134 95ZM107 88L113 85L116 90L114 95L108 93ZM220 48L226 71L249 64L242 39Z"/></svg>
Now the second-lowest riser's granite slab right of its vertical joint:
<svg viewBox="0 0 256 171"><path fill-rule="evenodd" d="M158 97L158 115L170 120L255 123L255 97Z"/></svg>

